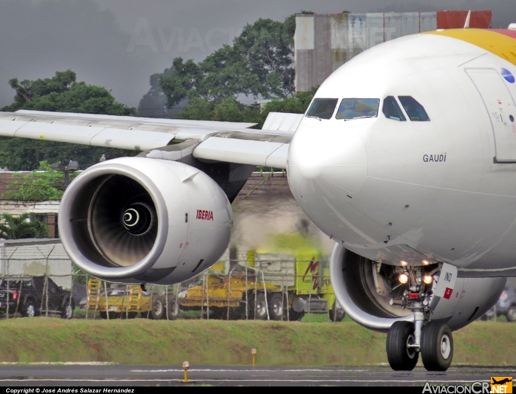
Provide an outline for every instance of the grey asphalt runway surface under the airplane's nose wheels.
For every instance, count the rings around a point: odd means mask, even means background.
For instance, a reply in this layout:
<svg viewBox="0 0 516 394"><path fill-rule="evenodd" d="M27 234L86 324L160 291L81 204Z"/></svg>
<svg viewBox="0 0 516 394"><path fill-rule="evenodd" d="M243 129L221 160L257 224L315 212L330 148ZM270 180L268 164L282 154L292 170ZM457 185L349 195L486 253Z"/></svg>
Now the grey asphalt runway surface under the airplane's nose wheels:
<svg viewBox="0 0 516 394"><path fill-rule="evenodd" d="M514 376L516 367L451 367L446 372L428 372L416 367L396 372L389 367L346 368L250 368L195 367L188 371L192 385L214 386L420 386L471 384L491 376ZM174 386L184 385L183 369L85 364L0 364L2 386Z"/></svg>

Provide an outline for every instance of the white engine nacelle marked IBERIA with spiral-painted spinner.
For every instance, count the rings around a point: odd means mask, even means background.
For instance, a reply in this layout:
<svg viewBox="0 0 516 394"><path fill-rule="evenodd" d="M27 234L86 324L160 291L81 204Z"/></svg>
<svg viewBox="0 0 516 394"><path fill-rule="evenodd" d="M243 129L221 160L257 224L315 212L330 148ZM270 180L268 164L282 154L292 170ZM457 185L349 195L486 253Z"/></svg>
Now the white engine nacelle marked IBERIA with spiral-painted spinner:
<svg viewBox="0 0 516 394"><path fill-rule="evenodd" d="M58 225L71 260L94 277L172 284L217 262L231 238L233 212L199 169L133 157L80 174L63 195Z"/></svg>

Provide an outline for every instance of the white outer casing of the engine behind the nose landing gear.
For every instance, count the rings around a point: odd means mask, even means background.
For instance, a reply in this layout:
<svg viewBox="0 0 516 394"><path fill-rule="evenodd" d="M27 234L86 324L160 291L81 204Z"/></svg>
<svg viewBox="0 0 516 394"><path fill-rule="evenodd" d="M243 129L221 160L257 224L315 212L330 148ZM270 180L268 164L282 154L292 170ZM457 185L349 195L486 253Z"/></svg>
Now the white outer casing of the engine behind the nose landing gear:
<svg viewBox="0 0 516 394"><path fill-rule="evenodd" d="M391 303L391 296L379 291L382 285L371 260L335 244L330 262L333 291L349 315L368 329L387 332L397 320L414 321L410 310ZM433 282L436 286L437 279ZM458 278L449 299L432 296L431 319L442 319L458 330L485 314L498 300L506 278Z"/></svg>

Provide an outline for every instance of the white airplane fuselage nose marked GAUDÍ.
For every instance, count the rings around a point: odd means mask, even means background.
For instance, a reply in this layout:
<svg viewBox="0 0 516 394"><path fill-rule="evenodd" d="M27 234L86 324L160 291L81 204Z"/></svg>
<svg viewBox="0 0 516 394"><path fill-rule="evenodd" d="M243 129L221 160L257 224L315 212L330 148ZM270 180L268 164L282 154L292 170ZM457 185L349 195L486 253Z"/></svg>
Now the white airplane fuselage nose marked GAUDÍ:
<svg viewBox="0 0 516 394"><path fill-rule="evenodd" d="M338 68L315 98L377 98L379 110L303 118L287 162L303 211L377 262L515 276L516 83L507 71L516 66L503 57L438 34L380 44ZM412 96L430 121L386 118L387 96Z"/></svg>

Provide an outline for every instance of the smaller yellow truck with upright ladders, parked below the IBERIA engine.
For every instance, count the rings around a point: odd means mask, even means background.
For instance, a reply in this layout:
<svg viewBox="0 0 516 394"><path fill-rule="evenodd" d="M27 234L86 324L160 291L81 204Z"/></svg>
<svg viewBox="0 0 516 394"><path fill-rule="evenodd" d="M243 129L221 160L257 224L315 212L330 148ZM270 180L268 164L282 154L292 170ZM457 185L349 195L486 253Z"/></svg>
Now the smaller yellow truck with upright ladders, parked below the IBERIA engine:
<svg viewBox="0 0 516 394"><path fill-rule="evenodd" d="M175 295L161 294L163 291L154 293L151 286L144 292L138 285L128 286L127 289L107 289L106 293L103 286L101 280L88 280L86 298L86 309L99 311L103 319L134 319L138 313L141 317L155 320L167 317L175 320L179 317L179 305L175 302Z"/></svg>

